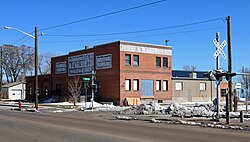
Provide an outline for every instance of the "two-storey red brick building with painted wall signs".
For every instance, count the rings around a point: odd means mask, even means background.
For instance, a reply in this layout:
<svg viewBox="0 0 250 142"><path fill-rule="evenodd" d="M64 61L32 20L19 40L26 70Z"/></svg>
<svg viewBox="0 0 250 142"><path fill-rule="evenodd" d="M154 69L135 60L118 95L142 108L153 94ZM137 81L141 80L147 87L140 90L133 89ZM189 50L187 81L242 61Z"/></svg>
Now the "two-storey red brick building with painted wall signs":
<svg viewBox="0 0 250 142"><path fill-rule="evenodd" d="M91 78L92 71L96 72L98 84L95 97L100 101L122 103L126 98L135 104L148 99L172 99L172 48L169 46L117 41L53 57L52 97L67 98L68 80Z"/></svg>

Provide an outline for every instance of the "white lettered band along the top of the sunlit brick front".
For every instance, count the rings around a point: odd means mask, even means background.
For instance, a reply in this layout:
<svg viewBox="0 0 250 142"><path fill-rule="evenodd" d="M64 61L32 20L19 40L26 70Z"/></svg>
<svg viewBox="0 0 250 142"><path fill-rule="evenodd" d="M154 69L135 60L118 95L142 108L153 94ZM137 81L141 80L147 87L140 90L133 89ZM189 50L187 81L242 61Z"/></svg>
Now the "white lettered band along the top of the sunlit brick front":
<svg viewBox="0 0 250 142"><path fill-rule="evenodd" d="M170 56L172 55L171 49L145 47L145 46L137 46L137 45L121 44L120 50L128 51L128 52L147 53L147 54L170 55Z"/></svg>

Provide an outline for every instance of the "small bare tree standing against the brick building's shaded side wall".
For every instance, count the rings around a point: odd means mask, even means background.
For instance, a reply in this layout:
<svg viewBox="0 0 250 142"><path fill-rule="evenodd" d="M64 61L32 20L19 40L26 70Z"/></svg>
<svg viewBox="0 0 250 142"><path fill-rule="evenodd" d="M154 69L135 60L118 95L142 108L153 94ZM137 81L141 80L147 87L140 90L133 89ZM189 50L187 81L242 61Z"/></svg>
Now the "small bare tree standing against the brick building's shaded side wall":
<svg viewBox="0 0 250 142"><path fill-rule="evenodd" d="M68 81L68 95L73 100L76 106L77 99L82 91L82 81L79 77L74 77Z"/></svg>

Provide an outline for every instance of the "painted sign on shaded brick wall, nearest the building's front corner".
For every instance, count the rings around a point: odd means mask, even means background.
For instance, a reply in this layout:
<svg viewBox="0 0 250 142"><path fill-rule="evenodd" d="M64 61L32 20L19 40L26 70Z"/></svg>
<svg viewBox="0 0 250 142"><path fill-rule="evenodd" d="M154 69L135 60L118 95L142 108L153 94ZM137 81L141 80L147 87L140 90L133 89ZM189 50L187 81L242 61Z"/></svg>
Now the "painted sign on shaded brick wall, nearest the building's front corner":
<svg viewBox="0 0 250 142"><path fill-rule="evenodd" d="M96 56L96 69L112 68L112 54L105 54Z"/></svg>

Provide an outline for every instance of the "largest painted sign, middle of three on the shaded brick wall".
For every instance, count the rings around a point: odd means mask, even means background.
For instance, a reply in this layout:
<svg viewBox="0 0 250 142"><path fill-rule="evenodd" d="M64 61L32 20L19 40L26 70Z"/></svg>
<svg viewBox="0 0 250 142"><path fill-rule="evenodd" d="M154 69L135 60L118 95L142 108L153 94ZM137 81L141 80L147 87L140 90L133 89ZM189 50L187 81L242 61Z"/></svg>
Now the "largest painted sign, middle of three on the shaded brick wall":
<svg viewBox="0 0 250 142"><path fill-rule="evenodd" d="M68 75L86 75L94 70L94 53L70 56L68 58Z"/></svg>

